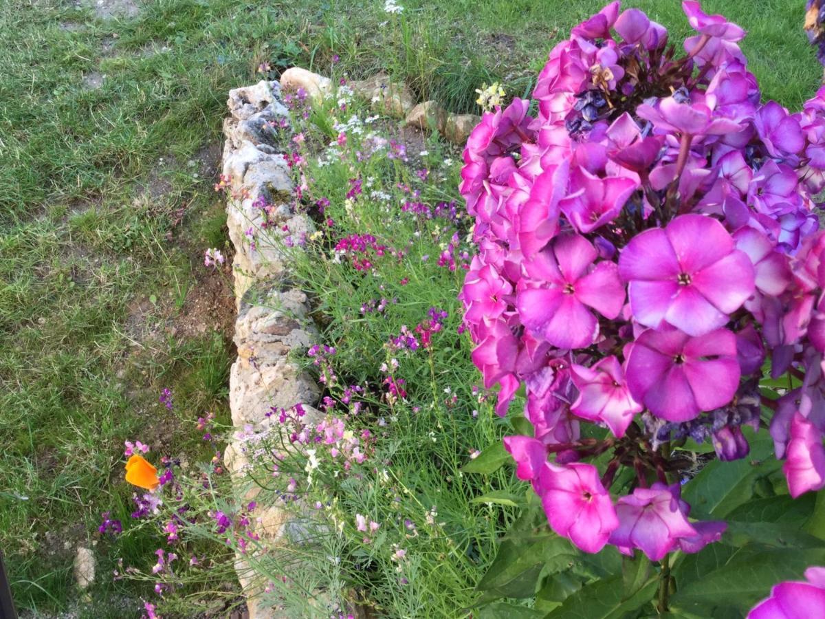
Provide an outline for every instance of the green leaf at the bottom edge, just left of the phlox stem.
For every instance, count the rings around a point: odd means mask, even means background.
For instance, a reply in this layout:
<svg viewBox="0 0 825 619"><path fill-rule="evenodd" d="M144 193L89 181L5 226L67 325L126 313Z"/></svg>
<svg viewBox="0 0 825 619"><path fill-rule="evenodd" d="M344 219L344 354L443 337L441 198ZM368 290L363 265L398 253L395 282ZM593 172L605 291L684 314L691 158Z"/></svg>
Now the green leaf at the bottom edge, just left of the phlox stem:
<svg viewBox="0 0 825 619"><path fill-rule="evenodd" d="M624 599L621 576L596 580L580 588L556 610L548 619L620 619L625 613L638 610L653 599L657 581L651 580L630 598Z"/></svg>

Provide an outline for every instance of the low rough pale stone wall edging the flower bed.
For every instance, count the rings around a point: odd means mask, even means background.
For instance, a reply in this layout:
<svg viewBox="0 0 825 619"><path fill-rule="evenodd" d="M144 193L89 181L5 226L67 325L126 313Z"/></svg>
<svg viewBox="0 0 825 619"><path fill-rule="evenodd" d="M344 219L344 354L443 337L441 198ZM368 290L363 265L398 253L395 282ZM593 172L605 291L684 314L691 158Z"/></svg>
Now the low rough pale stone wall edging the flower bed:
<svg viewBox="0 0 825 619"><path fill-rule="evenodd" d="M322 87L323 81L319 81L319 92ZM273 406L289 408L301 403L309 418L320 416L312 408L318 400L318 385L289 354L309 347L314 338L306 326L306 295L290 289L288 255L278 239L283 234L309 234L312 223L290 206L293 184L286 160L279 153L279 144L289 138L289 126L283 121L287 111L281 101L281 85L259 82L236 88L229 92L227 106L230 116L224 120L223 173L229 182L227 224L235 248L233 276L238 307L234 335L238 358L229 374L229 406L233 424L239 430L277 432L266 417ZM271 225L266 229L266 216L257 205L260 198L270 210ZM224 461L238 491L252 500L258 489L243 485L246 482L242 473L249 465L244 433L229 443ZM281 508L261 505L254 515L256 532L262 540L276 543L288 534L290 520ZM246 555L237 555L235 560L238 580L248 598L249 617L282 617L258 602L262 584L250 569L253 560Z"/></svg>

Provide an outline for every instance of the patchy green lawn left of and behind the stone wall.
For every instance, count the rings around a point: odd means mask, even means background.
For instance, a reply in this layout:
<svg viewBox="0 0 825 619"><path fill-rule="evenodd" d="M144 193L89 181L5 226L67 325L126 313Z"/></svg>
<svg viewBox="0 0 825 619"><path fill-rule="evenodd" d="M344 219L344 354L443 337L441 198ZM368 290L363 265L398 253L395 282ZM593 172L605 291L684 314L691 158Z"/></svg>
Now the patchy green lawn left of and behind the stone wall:
<svg viewBox="0 0 825 619"><path fill-rule="evenodd" d="M130 520L123 442L194 462L210 456L198 416L228 419L233 301L202 253L226 240L212 184L229 88L257 81L265 61L329 73L339 54L351 78L387 70L422 100L477 111L483 82L529 93L551 46L601 7L399 3L388 25L379 0L0 0L0 548L21 610L138 617L151 587L112 582L109 558L151 565L163 535L97 532L103 512ZM626 4L686 34L676 0ZM822 71L804 2L703 7L749 31L764 97L794 110L813 94ZM72 562L92 545L86 597Z"/></svg>

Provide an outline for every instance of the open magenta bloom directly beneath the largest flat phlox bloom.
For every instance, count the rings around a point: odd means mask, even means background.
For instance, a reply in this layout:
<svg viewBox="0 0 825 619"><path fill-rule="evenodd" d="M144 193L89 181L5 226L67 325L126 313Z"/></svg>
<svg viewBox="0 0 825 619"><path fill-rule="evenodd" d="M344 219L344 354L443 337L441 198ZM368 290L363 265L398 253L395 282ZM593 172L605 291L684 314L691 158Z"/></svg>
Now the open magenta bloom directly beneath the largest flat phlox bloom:
<svg viewBox="0 0 825 619"><path fill-rule="evenodd" d="M717 409L739 385L736 336L724 328L691 338L648 329L631 345L625 374L633 397L673 422Z"/></svg>

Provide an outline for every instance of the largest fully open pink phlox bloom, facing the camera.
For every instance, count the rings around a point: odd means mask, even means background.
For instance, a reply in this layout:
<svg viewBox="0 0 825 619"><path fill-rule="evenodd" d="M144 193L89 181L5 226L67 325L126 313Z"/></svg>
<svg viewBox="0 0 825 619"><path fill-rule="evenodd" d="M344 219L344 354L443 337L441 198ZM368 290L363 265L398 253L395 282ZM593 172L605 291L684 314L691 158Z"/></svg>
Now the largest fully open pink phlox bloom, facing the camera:
<svg viewBox="0 0 825 619"><path fill-rule="evenodd" d="M700 336L728 322L753 293L753 266L719 221L681 215L634 237L619 258L630 308L646 327Z"/></svg>

